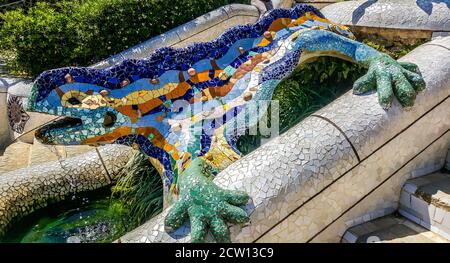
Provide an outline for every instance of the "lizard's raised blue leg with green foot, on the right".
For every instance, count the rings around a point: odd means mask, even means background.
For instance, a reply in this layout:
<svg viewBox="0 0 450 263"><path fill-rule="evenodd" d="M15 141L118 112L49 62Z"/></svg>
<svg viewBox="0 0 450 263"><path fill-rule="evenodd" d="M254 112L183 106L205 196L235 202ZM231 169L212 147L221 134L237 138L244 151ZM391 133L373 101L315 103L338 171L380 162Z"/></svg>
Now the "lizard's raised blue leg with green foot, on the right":
<svg viewBox="0 0 450 263"><path fill-rule="evenodd" d="M366 75L353 85L354 94L377 90L380 105L387 109L394 97L403 107L414 105L416 94L425 89L425 81L413 63L397 62L390 56L335 33L309 30L300 33L295 48L302 50L302 60L315 56L336 56L368 68Z"/></svg>

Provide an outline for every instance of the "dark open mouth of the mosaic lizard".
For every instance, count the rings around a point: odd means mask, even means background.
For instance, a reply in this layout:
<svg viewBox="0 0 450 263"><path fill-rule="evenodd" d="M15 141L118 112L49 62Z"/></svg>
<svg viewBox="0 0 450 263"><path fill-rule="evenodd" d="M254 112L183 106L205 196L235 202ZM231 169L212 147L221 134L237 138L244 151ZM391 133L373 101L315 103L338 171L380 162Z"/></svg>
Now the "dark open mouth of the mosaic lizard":
<svg viewBox="0 0 450 263"><path fill-rule="evenodd" d="M83 122L79 118L64 117L52 121L38 130L36 130L35 136L40 142L44 144L53 144L53 136L55 131L57 133L67 132L77 130L83 125Z"/></svg>

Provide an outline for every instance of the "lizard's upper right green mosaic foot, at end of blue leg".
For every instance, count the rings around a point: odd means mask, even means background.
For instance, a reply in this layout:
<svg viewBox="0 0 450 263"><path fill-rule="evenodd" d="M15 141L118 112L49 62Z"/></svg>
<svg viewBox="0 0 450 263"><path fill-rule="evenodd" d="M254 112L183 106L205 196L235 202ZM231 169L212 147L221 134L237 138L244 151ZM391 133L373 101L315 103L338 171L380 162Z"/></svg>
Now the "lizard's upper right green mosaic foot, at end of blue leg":
<svg viewBox="0 0 450 263"><path fill-rule="evenodd" d="M416 94L425 89L418 67L409 62L397 62L382 54L369 61L369 71L353 85L354 94L377 90L380 105L388 109L394 96L403 107L414 105Z"/></svg>

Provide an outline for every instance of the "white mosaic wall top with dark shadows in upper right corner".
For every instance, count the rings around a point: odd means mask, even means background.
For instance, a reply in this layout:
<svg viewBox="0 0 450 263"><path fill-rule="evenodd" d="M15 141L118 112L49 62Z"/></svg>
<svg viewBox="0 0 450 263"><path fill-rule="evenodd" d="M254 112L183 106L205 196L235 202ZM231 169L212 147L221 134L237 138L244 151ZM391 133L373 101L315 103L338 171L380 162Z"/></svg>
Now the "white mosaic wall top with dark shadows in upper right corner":
<svg viewBox="0 0 450 263"><path fill-rule="evenodd" d="M434 37L450 35L450 4L447 1L343 1L321 11L331 21L355 30L395 29L407 32L409 38L415 37L416 31L428 31Z"/></svg>

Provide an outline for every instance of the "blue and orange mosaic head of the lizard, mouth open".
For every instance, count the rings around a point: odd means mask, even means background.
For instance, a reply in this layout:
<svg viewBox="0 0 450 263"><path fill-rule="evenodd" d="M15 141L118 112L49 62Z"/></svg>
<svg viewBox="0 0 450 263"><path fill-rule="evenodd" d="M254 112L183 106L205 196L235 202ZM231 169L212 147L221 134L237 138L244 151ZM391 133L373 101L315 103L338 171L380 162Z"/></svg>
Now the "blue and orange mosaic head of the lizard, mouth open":
<svg viewBox="0 0 450 263"><path fill-rule="evenodd" d="M112 89L117 86L115 80L99 83L94 77L101 73L94 69L62 68L43 72L36 79L28 110L60 116L36 131L38 140L63 145L114 142L114 136L104 135L130 123L131 118L120 112L121 98L114 97Z"/></svg>

